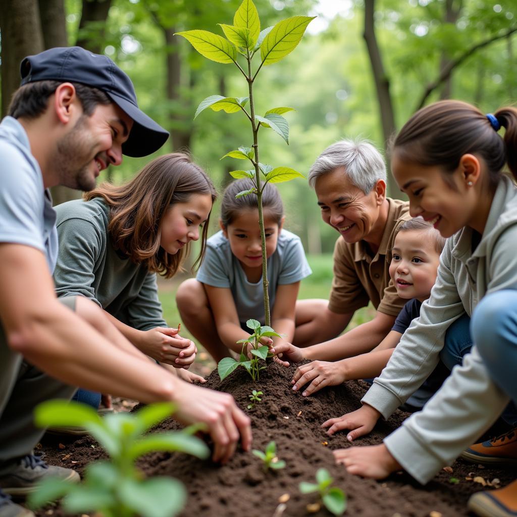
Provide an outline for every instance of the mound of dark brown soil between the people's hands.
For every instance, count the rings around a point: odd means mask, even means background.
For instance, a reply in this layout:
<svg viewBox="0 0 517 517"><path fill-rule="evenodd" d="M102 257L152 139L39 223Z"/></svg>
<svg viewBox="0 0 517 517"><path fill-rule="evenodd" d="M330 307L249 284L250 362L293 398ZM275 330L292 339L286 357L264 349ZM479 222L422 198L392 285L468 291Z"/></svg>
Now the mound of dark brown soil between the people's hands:
<svg viewBox="0 0 517 517"><path fill-rule="evenodd" d="M267 371L262 372L256 384L251 382L247 372L242 369L223 382L219 381L214 371L205 384L206 387L231 393L237 404L250 415L253 448L264 450L270 440L275 440L278 458L286 462L284 469L264 472L258 458L241 450L224 466L185 454L170 453L149 454L140 461L140 468L149 476L173 476L183 481L189 493L183 517L306 515L307 505L315 503L317 496L300 494L298 484L300 481L314 482L315 472L320 467L326 467L334 478L334 485L346 493L346 515L354 517L468 515L466 501L469 495L486 488L465 478L480 476L488 481L497 478L502 486L514 479L510 469L482 468L462 461L452 465L452 473L442 470L424 487L402 473L394 474L385 481L349 475L343 467L334 465L331 453L332 449L350 446L346 433L328 437L320 426L328 418L357 409L367 389L366 384L360 381L347 382L304 398L291 389L293 373L294 367L286 369L273 363ZM263 391L264 397L261 403L248 410L248 395L252 389ZM356 445L381 443L407 416L397 411L387 422L379 422L371 435L360 438ZM170 419L158 429L177 427ZM81 472L86 463L102 455L94 440L88 437L65 444L65 447L56 450L50 445L45 446L47 459L54 464L77 468ZM451 477L458 479L459 483L451 483ZM285 494L288 494L288 500L282 512L279 498L284 496L281 500L285 500ZM439 513L432 514L433 511ZM40 515L44 515L44 512ZM321 508L313 515L330 514Z"/></svg>

